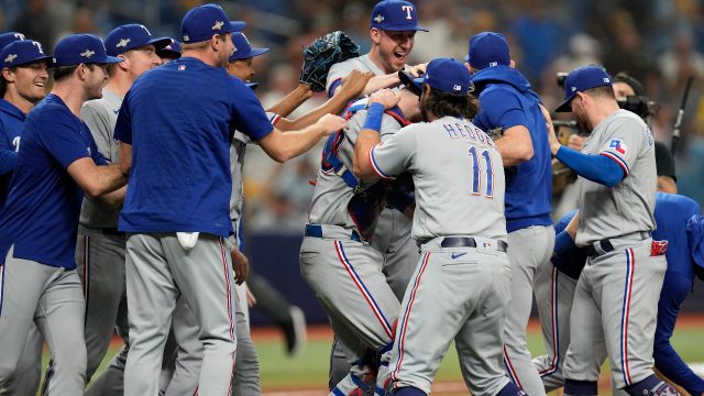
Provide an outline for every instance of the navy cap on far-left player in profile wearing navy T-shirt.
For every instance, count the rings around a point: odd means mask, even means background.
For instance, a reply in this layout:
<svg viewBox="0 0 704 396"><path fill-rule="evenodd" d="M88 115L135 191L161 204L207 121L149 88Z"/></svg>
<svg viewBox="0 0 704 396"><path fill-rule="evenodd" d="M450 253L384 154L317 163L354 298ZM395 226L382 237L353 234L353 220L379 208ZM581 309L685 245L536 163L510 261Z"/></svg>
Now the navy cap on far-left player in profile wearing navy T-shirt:
<svg viewBox="0 0 704 396"><path fill-rule="evenodd" d="M122 58L108 55L102 40L94 34L69 34L62 38L54 48L54 64L56 66L120 62Z"/></svg>

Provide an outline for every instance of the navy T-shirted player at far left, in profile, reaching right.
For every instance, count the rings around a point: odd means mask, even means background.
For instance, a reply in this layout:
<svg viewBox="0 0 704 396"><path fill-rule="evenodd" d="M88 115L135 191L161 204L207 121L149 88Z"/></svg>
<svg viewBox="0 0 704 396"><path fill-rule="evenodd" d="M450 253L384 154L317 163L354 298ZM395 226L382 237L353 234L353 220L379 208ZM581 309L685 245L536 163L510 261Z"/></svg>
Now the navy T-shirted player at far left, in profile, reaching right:
<svg viewBox="0 0 704 396"><path fill-rule="evenodd" d="M22 42L18 42L22 43ZM3 50L3 66L41 46ZM41 53L42 58L51 58ZM12 374L32 321L50 345L55 375L48 395L82 394L86 372L85 301L74 252L80 201L123 186L118 166L98 152L79 119L86 100L101 97L108 56L94 35L73 34L54 50L55 85L28 116L18 165L0 215L0 386Z"/></svg>

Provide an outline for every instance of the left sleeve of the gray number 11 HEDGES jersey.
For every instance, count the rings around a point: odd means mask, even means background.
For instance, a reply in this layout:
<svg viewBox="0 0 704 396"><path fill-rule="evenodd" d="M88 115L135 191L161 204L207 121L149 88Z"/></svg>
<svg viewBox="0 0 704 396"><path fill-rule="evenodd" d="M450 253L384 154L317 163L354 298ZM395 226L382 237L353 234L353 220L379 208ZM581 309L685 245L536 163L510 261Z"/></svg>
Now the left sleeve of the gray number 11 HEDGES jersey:
<svg viewBox="0 0 704 396"><path fill-rule="evenodd" d="M413 128L404 128L370 151L370 161L377 175L389 178L410 168L416 152Z"/></svg>

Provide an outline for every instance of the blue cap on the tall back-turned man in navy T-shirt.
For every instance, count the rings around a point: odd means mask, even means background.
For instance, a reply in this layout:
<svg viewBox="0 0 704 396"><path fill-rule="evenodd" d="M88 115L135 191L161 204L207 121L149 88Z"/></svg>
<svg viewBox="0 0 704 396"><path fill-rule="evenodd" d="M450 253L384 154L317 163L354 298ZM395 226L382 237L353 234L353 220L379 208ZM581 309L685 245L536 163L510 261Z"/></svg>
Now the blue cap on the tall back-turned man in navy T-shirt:
<svg viewBox="0 0 704 396"><path fill-rule="evenodd" d="M242 21L230 21L222 7L202 4L194 7L184 15L180 35L184 43L200 43L213 34L239 32L246 26Z"/></svg>

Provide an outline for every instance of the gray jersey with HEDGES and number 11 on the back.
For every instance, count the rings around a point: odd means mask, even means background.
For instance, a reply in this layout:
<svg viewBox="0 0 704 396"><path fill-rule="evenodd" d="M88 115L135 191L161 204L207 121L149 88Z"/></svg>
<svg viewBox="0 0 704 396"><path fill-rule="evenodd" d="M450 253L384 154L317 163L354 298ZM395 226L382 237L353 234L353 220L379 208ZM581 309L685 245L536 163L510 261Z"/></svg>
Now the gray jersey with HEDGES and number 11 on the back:
<svg viewBox="0 0 704 396"><path fill-rule="evenodd" d="M457 155L462 151L464 156ZM371 151L372 166L381 177L409 170L416 185L413 237L425 243L443 235L482 235L506 241L504 169L494 142L471 122L442 118L405 127ZM436 166L443 164L444 166ZM464 167L462 167L464 166ZM452 168L466 169L458 177ZM471 197L485 197L460 205ZM484 213L476 221L476 213Z"/></svg>

